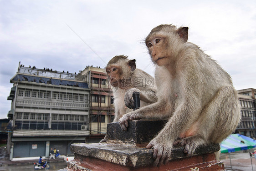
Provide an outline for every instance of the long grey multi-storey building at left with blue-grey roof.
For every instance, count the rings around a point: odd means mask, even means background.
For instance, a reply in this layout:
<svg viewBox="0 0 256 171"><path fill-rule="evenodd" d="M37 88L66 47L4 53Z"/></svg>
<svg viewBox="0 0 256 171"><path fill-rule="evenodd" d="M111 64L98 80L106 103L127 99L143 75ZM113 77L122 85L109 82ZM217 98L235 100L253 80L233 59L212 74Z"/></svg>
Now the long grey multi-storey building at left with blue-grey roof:
<svg viewBox="0 0 256 171"><path fill-rule="evenodd" d="M70 155L71 143L90 136L87 75L19 64L10 82L10 159L48 156L51 147Z"/></svg>

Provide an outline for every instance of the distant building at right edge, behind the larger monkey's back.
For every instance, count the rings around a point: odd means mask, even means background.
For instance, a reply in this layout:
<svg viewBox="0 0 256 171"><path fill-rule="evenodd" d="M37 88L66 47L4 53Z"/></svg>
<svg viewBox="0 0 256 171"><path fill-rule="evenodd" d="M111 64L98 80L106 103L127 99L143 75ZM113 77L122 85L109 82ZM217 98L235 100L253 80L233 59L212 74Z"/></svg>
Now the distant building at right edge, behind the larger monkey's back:
<svg viewBox="0 0 256 171"><path fill-rule="evenodd" d="M256 89L248 88L237 92L242 107L242 120L236 131L256 138Z"/></svg>

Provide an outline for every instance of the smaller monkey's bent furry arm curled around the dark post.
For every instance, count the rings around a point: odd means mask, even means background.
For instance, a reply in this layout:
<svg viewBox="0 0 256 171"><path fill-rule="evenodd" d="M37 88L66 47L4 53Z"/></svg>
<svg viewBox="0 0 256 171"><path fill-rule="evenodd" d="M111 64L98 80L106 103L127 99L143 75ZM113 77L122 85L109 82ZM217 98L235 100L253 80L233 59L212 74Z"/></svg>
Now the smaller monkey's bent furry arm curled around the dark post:
<svg viewBox="0 0 256 171"><path fill-rule="evenodd" d="M131 88L129 89L124 96L124 103L125 106L132 109L134 107L134 101L133 101L133 93L139 92L140 100L144 101L146 103L152 104L157 101L156 96L156 89L151 87L146 87L143 90L140 90L138 88Z"/></svg>

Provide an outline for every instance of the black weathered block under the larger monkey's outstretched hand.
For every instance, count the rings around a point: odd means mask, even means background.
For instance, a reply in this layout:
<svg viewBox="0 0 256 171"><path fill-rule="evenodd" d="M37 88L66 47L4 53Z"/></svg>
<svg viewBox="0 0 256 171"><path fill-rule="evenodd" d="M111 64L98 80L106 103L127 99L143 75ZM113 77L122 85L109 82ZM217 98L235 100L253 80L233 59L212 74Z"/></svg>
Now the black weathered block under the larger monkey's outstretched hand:
<svg viewBox="0 0 256 171"><path fill-rule="evenodd" d="M164 127L162 120L133 120L128 121L128 130L121 130L118 122L107 126L107 142L127 144L131 146L146 146Z"/></svg>

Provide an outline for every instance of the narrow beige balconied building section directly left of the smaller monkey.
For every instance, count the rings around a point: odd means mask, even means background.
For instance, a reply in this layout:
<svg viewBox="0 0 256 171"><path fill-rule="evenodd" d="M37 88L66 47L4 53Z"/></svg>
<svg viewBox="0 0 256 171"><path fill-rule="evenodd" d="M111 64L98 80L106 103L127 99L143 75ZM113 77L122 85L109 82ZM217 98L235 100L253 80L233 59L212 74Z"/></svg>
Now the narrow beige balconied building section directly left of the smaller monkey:
<svg viewBox="0 0 256 171"><path fill-rule="evenodd" d="M99 142L104 138L107 124L113 122L113 94L108 85L107 75L100 67L87 66L81 75L87 77L90 94L90 137L87 142Z"/></svg>

